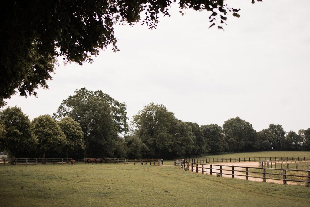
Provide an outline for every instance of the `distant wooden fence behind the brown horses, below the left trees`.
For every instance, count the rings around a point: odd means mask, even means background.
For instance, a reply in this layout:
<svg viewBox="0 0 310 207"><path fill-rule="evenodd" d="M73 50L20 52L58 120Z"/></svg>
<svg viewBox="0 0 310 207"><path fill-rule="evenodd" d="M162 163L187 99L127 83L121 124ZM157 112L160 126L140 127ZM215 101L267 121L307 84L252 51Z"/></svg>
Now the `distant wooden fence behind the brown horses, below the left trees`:
<svg viewBox="0 0 310 207"><path fill-rule="evenodd" d="M73 159L76 163L87 163L87 159L89 158L81 158L81 159ZM68 159L70 163L72 158ZM14 158L7 159L2 158L0 160L0 165L7 164L64 164L67 163L67 158ZM163 165L163 159L127 159L127 158L102 158L102 162L104 164L142 164L142 165Z"/></svg>

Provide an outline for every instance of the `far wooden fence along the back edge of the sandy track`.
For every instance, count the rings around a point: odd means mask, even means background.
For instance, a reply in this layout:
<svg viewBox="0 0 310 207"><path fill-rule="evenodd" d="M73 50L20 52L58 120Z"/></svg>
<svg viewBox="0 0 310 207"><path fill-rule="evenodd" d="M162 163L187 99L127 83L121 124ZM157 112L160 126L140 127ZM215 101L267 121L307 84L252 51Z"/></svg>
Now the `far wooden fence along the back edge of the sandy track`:
<svg viewBox="0 0 310 207"><path fill-rule="evenodd" d="M310 157L216 157L216 158L195 158L195 159L185 159L185 160L192 160L194 163L204 164L204 163L223 163L223 162L257 162L257 161L268 161L268 160L277 160L277 159L292 159L292 160L306 160L310 159ZM184 159L174 159L174 163L180 164L180 160Z"/></svg>

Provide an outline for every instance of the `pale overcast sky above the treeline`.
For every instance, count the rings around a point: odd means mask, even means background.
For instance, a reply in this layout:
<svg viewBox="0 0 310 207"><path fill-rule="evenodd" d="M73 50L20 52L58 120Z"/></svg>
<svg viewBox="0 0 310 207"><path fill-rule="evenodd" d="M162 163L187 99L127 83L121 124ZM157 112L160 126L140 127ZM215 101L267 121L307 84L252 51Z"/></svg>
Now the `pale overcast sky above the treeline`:
<svg viewBox="0 0 310 207"><path fill-rule="evenodd" d="M13 96L30 119L52 115L75 89L102 90L127 104L131 119L149 102L178 119L219 124L239 116L260 131L281 124L286 132L310 127L310 1L229 1L241 17L225 31L211 28L208 12L177 5L156 30L116 26L120 49L102 51L93 64L60 64L38 98ZM298 2L298 4L297 4Z"/></svg>

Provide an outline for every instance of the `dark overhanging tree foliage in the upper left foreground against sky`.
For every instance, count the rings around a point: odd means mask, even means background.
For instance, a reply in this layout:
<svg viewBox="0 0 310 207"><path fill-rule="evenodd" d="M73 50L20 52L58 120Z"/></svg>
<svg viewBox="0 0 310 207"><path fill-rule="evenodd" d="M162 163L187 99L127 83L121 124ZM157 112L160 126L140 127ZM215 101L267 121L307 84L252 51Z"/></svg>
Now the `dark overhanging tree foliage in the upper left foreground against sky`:
<svg viewBox="0 0 310 207"><path fill-rule="evenodd" d="M261 0L257 0L261 1ZM168 10L175 0L167 1L1 1L0 28L1 76L0 106L4 99L20 92L21 96L36 95L38 86L48 88L56 58L83 64L92 61L108 45L116 52L114 25L140 21L156 29L159 13ZM255 1L252 0L252 3ZM211 26L218 21L223 29L228 14L239 17L239 9L230 8L226 0L178 1L183 10L210 11ZM211 27L210 26L210 27ZM16 32L18 31L18 32Z"/></svg>

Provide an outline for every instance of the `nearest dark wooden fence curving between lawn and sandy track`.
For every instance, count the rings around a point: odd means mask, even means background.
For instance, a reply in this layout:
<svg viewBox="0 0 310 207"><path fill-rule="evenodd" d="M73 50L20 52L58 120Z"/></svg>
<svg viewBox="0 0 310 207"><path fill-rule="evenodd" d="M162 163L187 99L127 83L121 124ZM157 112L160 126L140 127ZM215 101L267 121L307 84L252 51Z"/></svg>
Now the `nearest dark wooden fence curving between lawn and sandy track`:
<svg viewBox="0 0 310 207"><path fill-rule="evenodd" d="M235 178L235 176L245 177L246 180L249 178L261 178L263 182L266 180L281 180L283 184L286 184L287 181L290 182L301 182L306 183L307 187L310 187L310 170L298 170L298 169L281 169L282 173L272 173L266 172L266 170L279 170L273 168L262 168L262 167L247 167L247 166L231 166L231 165L218 165L218 164L201 164L198 162L190 162L186 159L180 161L180 165L182 169L191 170L191 172L195 171L196 173L201 172L202 174L209 173L212 174L219 174L220 177L223 175L231 176L231 178ZM225 167L225 169L223 169ZM194 169L195 168L195 169ZM244 170L243 170L244 169ZM227 173L228 171L228 173ZM239 172L239 173L235 173ZM290 172L301 172L302 175L294 174ZM249 175L249 173L251 173ZM256 176L257 174L261 176ZM275 177L267 177L268 175L276 175L281 176L282 178L275 178ZM305 180L297 180L294 178L304 178Z"/></svg>

